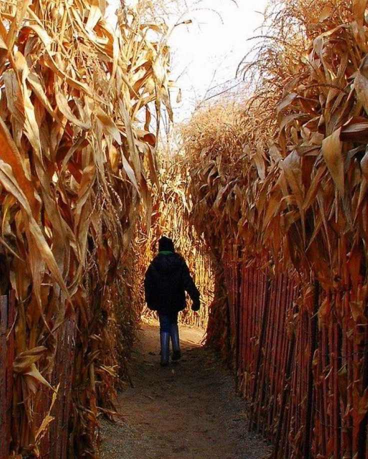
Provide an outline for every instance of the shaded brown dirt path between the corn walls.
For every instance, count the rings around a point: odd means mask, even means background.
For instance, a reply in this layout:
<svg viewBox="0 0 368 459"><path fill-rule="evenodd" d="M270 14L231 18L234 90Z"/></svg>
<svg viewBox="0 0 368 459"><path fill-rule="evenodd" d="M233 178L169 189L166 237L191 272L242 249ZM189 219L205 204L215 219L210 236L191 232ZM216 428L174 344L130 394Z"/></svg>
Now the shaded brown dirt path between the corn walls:
<svg viewBox="0 0 368 459"><path fill-rule="evenodd" d="M265 442L247 431L246 405L231 375L201 338L200 330L181 327L182 360L161 368L158 327L142 325L131 365L134 388L119 396L121 420L102 422L102 458L265 457Z"/></svg>

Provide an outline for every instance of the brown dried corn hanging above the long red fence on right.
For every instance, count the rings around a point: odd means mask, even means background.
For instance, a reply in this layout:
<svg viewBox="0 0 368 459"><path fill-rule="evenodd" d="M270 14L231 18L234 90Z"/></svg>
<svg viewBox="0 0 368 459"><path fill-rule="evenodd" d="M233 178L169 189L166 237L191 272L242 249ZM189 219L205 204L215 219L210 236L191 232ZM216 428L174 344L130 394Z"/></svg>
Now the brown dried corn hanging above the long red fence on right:
<svg viewBox="0 0 368 459"><path fill-rule="evenodd" d="M276 35L261 49L257 92L243 106L197 113L182 133L199 229L212 226L222 247L231 234L244 250L252 244L274 260L312 267L329 288L366 237L365 29L358 28L364 9L318 3L309 10L306 2L284 1L286 17L300 9L293 17L298 46L287 35L274 44Z"/></svg>

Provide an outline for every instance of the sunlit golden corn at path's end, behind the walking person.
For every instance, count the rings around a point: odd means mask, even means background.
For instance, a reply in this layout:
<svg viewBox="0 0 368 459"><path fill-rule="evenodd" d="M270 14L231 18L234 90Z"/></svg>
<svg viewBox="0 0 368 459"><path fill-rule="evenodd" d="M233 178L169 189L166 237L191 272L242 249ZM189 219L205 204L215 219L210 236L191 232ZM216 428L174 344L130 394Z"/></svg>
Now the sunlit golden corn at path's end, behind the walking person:
<svg viewBox="0 0 368 459"><path fill-rule="evenodd" d="M179 315L181 323L206 329L208 308L213 299L214 278L211 270L210 255L203 240L198 237L188 223L188 202L185 196L186 167L183 158L160 157L159 181L160 188L153 195L152 225L147 237L144 220L137 231L135 249L137 264L137 284L134 291L139 291L139 302L142 305L142 315L155 318L153 311L144 306L143 278L145 270L157 253L158 239L161 235L171 237L175 249L185 258L193 279L200 290L201 308L198 313L189 308Z"/></svg>

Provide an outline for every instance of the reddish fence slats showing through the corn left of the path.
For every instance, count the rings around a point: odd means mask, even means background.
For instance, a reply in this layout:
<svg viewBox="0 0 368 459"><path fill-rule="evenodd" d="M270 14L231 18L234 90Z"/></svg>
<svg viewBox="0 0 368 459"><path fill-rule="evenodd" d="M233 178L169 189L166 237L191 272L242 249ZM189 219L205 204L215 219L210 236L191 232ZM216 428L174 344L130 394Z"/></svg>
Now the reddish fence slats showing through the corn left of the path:
<svg viewBox="0 0 368 459"><path fill-rule="evenodd" d="M13 406L13 386L20 383L13 374L14 360L15 301L11 293L0 296L0 459L7 459L10 450L16 446L20 432L15 430L15 416L19 414ZM40 457L65 459L69 444L69 419L71 417L71 394L75 349L75 322L67 320L57 330L55 366L51 384L58 386L57 397L50 411L53 417L43 436L39 438ZM60 383L60 384L59 384ZM59 385L58 385L59 384ZM51 405L52 391L41 386L37 392L34 416L41 425ZM23 451L27 455L27 451Z"/></svg>

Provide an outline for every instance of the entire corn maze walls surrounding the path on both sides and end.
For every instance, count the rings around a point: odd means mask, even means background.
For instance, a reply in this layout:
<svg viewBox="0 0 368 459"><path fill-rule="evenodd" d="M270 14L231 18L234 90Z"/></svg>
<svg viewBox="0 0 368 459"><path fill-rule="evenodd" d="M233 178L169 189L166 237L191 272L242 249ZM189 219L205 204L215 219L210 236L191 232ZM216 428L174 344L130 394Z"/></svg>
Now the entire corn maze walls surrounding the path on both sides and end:
<svg viewBox="0 0 368 459"><path fill-rule="evenodd" d="M244 429L368 459L367 0L271 2L251 91L195 111L161 170L167 27L121 3L112 29L102 0L0 2L0 459L98 457L162 233Z"/></svg>

